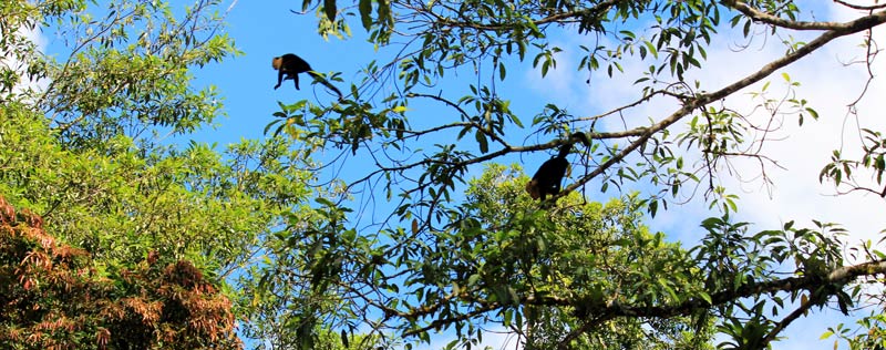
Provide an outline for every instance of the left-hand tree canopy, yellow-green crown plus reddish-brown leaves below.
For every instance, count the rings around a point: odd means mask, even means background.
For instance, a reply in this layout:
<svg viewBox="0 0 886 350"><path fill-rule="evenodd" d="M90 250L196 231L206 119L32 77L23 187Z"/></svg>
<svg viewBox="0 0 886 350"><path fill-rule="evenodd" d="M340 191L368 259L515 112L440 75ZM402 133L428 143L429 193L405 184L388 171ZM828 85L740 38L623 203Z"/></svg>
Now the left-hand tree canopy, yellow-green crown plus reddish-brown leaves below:
<svg viewBox="0 0 886 350"><path fill-rule="evenodd" d="M274 243L267 237L275 227L310 220L300 208L315 192L299 166L310 161L292 140L243 140L220 151L187 141L223 113L212 85L192 85L193 71L239 54L218 32L218 6L0 6L0 195L44 223L40 235L3 241L4 297L14 298L2 305L10 310L6 343L240 343L235 317L246 318L235 302L258 282L249 269ZM38 31L63 38L64 50L42 52ZM55 259L70 266L47 265ZM18 306L45 311L17 317ZM23 341L29 337L45 341Z"/></svg>

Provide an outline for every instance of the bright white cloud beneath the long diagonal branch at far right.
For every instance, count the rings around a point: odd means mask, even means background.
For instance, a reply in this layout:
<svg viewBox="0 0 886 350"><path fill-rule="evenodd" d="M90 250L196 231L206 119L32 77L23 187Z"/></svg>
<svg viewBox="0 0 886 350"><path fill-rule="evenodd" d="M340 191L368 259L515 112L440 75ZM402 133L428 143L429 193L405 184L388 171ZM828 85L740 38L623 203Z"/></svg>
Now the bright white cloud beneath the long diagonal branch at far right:
<svg viewBox="0 0 886 350"><path fill-rule="evenodd" d="M869 238L886 227L882 198L859 194L834 196L833 184L818 182L818 172L828 162L833 150L843 147L857 154L857 130L854 122L847 120L846 105L858 96L866 76L861 65L842 66L837 60L845 52L857 52L857 35L841 39L787 69L792 79L802 83L796 89L797 97L808 100L821 120L815 122L807 116L804 125L797 126L795 116L785 116L783 130L775 136L786 138L765 145L764 154L777 159L785 169L767 172L775 183L771 195L758 191L742 196L745 208L755 208L742 214L759 226L772 227L789 219L811 224L811 219L817 218L843 223L856 239ZM875 80L866 99L858 105L863 125L876 126L872 125L872 119L878 117L876 111L886 107L876 97L882 93L883 83ZM743 172L759 169L755 162L736 163Z"/></svg>

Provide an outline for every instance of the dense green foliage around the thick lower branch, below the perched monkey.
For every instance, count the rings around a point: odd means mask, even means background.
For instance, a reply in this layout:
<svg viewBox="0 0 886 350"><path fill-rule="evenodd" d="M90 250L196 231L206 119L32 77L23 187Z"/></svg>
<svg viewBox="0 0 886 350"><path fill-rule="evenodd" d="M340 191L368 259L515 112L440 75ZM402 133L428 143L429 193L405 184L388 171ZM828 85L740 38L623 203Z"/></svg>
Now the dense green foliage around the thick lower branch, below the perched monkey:
<svg viewBox="0 0 886 350"><path fill-rule="evenodd" d="M399 341L381 331L430 341L449 329L457 336L451 347L471 347L498 325L533 349L704 348L714 331L729 337L721 346L765 348L813 308L833 302L847 313L863 292L853 281L884 268L843 267L845 231L833 224L749 235L748 223L709 218L701 243L684 250L638 224L636 196L605 206L569 196L539 210L525 181L491 166L451 224L432 233L418 224L375 239L334 227L299 231L290 247L310 251L301 276L310 291L299 295L315 306L299 310L329 312L346 328L374 325L390 343ZM784 277L789 264L796 269ZM773 319L792 303L800 308Z"/></svg>

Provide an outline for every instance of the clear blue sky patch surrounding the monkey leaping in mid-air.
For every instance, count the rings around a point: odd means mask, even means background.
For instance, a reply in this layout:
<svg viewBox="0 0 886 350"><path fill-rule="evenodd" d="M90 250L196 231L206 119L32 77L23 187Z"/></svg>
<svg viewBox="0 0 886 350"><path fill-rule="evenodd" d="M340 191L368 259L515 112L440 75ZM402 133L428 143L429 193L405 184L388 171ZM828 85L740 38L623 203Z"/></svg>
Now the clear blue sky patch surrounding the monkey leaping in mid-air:
<svg viewBox="0 0 886 350"><path fill-rule="evenodd" d="M219 120L217 130L202 135L207 142L225 144L240 137L261 137L265 126L274 120L271 114L280 110L278 101L312 100L315 93L320 102L334 101L322 86L309 84L307 78L302 78L300 91L291 81L274 90L277 72L271 69L271 58L297 53L316 71L327 73L356 72L367 58L375 55L365 41L324 41L317 34L315 18L293 14L289 11L293 8L293 1L238 1L227 14L227 33L244 55L196 71L197 85L216 85L225 96L228 113L227 119ZM357 29L354 32L361 33Z"/></svg>

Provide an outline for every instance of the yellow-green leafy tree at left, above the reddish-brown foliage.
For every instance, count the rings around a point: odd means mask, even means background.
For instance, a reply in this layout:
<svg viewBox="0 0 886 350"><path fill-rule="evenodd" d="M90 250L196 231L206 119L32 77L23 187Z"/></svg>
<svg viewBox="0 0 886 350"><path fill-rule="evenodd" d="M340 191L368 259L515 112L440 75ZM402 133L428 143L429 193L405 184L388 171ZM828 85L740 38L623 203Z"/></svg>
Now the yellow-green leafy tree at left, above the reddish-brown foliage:
<svg viewBox="0 0 886 350"><path fill-rule="evenodd" d="M278 319L275 299L240 295L259 282L249 268L280 245L281 238L271 235L278 225L310 220L312 210L302 203L312 194L306 185L312 175L305 169L310 161L289 138L245 140L225 151L197 142L168 145L165 140L208 125L220 114L214 87L195 90L190 72L237 53L231 39L219 34L219 4L198 0L182 10L150 0L3 2L0 50L9 52L9 61L2 64L8 84L0 94L0 194L39 213L48 230L81 249L78 261L101 261L95 269L102 272L90 276L130 271L127 276L137 277L133 284L157 291L162 286L142 279L164 282L164 276L202 275L199 286L214 286L213 296L248 299L235 305L234 312L249 334L264 327L250 317L262 320L259 315L270 310L268 317ZM96 13L101 16L94 18ZM54 29L70 51L44 55L17 28ZM156 251L163 265L143 271L137 261L147 251ZM178 260L194 268L175 265ZM166 274L168 264L173 267ZM33 302L51 311L65 300ZM153 322L161 316L154 299L131 300L141 302L134 303L141 313L122 309L128 313L121 318L138 315ZM205 323L197 313L175 317ZM7 325L31 327L19 321ZM112 334L115 347L128 348L119 333ZM183 348L215 341L207 332L188 334L194 340L182 342ZM60 347L81 348L56 340ZM164 348L172 347L164 341ZM132 342L132 348L145 347Z"/></svg>

